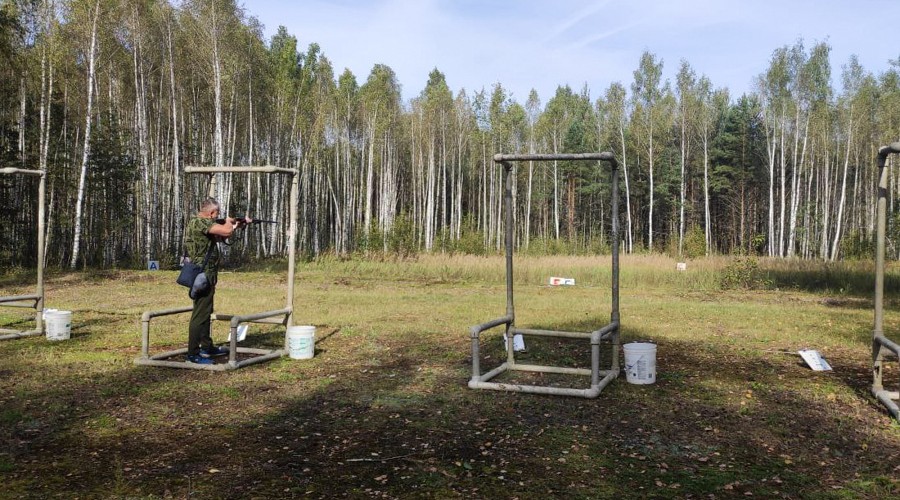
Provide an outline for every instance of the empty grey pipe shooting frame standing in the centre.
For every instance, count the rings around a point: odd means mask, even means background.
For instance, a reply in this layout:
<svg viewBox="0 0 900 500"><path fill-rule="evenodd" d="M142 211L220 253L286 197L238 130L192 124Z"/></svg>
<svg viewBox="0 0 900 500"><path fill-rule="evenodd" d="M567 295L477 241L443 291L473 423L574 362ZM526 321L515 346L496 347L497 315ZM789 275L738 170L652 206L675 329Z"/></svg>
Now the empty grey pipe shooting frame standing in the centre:
<svg viewBox="0 0 900 500"><path fill-rule="evenodd" d="M514 211L512 205L512 185L515 181L512 162L517 161L605 161L612 169L612 303L609 324L593 332L562 332L555 330L537 330L531 328L516 328L516 310L513 296L513 236L514 236ZM487 389L508 392L526 392L531 394L548 394L555 396L575 396L582 398L596 398L610 382L619 376L619 163L613 153L578 153L578 154L496 154L494 162L503 165L504 178L504 210L506 211L506 315L497 319L475 325L469 329L472 338L472 378L469 380L471 389ZM504 326L506 332L506 361L500 366L481 373L480 337L481 333ZM554 337L577 340L590 340L591 344L591 368L568 368L560 366L529 365L516 362L513 337L516 334ZM612 347L612 356L608 370L600 369L600 346L608 343ZM586 389L546 387L538 385L507 384L491 382L498 375L507 371L523 371L538 373L557 373L565 375L590 376L591 385Z"/></svg>

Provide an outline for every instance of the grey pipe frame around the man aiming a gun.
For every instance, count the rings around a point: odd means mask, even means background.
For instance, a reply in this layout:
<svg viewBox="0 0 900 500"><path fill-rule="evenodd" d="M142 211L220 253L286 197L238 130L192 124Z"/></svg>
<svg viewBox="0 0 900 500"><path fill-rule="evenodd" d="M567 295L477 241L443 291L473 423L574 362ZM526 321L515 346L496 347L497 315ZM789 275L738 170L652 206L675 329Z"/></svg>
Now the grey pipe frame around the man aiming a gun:
<svg viewBox="0 0 900 500"><path fill-rule="evenodd" d="M250 313L243 315L236 314L213 314L211 319L214 321L229 321L231 331L231 341L228 349L228 362L214 365L199 365L188 361L172 361L169 358L178 355L187 354L187 348L182 347L173 351L167 351L159 354L150 355L150 321L160 316L169 316L173 314L183 314L193 311L193 307L179 307L175 309L165 309L161 311L146 311L141 316L141 356L134 360L136 365L159 366L165 368L185 368L191 370L208 370L208 371L225 371L243 368L245 366L262 363L272 359L278 359L288 354L288 330L294 321L294 275L296 274L296 242L297 242L297 209L299 207L300 197L300 172L296 169L281 168L274 166L263 167L185 167L185 173L188 174L209 174L217 173L259 173L259 174L287 174L291 179L290 194L290 211L291 222L288 229L288 279L287 279L287 299L283 309L273 311L264 311L258 313ZM212 186L211 186L212 187ZM283 316L282 320L273 318ZM281 349L254 349L249 347L237 346L237 328L243 323L263 323L263 324L279 324L284 325L284 343ZM237 360L238 354L252 354L253 357Z"/></svg>

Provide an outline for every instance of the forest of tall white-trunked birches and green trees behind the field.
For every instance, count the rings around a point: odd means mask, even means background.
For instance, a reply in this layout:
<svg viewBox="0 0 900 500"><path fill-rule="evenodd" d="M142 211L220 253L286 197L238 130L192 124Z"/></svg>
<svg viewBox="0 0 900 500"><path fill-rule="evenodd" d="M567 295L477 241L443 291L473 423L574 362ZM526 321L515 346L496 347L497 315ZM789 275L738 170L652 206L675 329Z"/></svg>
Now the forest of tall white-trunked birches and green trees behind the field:
<svg viewBox="0 0 900 500"><path fill-rule="evenodd" d="M608 88L519 102L502 83L451 89L437 68L404 99L390 67L339 71L324 49L283 27L267 40L233 0L0 0L0 167L48 174L47 264L174 262L210 182L186 166L297 169L304 255L495 252L492 155L586 151L619 159L627 252L871 255L900 58L836 70L827 42L798 40L734 96L688 61L664 79L646 51ZM519 251L609 250L606 165L526 162L516 179ZM219 175L228 213L279 221L234 255L286 254L289 184ZM37 182L0 176L4 265L33 265L36 203Z"/></svg>

